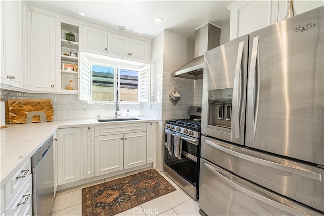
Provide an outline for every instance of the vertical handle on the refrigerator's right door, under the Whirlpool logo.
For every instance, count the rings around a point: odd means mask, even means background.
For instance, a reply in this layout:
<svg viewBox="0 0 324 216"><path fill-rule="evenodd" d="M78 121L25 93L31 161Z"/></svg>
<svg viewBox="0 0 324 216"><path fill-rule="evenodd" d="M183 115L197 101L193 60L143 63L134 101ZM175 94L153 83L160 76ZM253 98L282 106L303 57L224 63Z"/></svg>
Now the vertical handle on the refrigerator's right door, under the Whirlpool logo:
<svg viewBox="0 0 324 216"><path fill-rule="evenodd" d="M260 64L259 36L253 38L247 90L247 127L249 140L254 142L259 107Z"/></svg>

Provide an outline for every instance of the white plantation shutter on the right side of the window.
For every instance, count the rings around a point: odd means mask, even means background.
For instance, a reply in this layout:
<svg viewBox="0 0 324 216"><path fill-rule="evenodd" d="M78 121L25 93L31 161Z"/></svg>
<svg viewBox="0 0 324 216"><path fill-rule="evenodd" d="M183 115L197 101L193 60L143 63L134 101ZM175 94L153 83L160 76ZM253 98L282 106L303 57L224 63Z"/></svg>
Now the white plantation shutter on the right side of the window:
<svg viewBox="0 0 324 216"><path fill-rule="evenodd" d="M138 84L138 101L147 102L150 101L150 70L149 65L141 68L139 73Z"/></svg>

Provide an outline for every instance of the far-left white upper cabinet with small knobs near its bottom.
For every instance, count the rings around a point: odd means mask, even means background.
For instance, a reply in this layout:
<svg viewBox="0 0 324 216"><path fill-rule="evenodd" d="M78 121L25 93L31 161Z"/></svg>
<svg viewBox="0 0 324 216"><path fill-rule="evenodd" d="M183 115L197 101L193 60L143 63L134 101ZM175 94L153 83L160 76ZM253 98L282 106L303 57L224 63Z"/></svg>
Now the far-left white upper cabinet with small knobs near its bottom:
<svg viewBox="0 0 324 216"><path fill-rule="evenodd" d="M23 88L23 2L4 1L2 4L4 63L0 71L1 83Z"/></svg>

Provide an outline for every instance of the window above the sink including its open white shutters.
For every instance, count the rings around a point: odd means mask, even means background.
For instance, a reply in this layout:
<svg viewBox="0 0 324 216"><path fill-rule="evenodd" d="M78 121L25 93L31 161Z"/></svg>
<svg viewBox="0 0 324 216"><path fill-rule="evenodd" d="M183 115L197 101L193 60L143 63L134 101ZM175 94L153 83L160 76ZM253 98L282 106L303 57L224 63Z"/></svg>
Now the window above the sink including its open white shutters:
<svg viewBox="0 0 324 216"><path fill-rule="evenodd" d="M149 101L150 76L148 64L82 53L80 65L81 88L79 95L85 96L80 97L80 100ZM89 81L82 80L82 77L89 79ZM118 97L116 97L117 90Z"/></svg>

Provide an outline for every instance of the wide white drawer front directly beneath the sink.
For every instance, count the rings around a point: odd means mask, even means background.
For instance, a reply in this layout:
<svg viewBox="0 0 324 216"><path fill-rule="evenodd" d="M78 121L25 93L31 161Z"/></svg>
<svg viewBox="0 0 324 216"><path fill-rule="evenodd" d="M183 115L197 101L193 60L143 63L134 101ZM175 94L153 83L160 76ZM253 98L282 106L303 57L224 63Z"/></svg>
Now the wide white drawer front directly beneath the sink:
<svg viewBox="0 0 324 216"><path fill-rule="evenodd" d="M134 133L140 131L146 131L146 123L102 125L96 126L95 136Z"/></svg>

